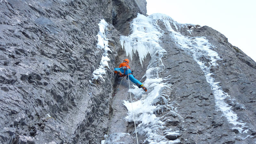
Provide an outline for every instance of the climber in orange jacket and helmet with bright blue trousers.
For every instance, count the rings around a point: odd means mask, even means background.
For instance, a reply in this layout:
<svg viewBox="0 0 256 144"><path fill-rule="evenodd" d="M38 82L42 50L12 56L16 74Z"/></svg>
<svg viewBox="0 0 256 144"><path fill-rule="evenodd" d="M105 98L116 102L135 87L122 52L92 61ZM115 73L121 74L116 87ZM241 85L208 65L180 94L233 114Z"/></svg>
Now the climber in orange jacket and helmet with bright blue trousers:
<svg viewBox="0 0 256 144"><path fill-rule="evenodd" d="M115 68L115 73L117 74L117 76L119 75L120 77L129 75L129 79L134 84L136 84L139 88L142 88L145 92L148 91L147 88L132 75L128 59L125 59L124 62L120 63L119 68Z"/></svg>

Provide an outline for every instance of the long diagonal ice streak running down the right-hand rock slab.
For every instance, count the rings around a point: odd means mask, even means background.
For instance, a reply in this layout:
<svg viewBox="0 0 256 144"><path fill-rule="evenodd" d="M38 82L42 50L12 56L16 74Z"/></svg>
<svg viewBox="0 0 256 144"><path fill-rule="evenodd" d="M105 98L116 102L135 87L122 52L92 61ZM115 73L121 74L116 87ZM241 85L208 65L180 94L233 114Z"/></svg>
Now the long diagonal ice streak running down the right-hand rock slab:
<svg viewBox="0 0 256 144"><path fill-rule="evenodd" d="M210 44L205 37L183 36L170 27L169 21L166 21L165 19L160 20L164 22L166 28L171 32L171 36L180 45L180 47L186 52L189 52L203 70L206 81L210 84L213 91L218 110L222 111L230 124L241 125L243 128L245 124L242 121L238 121L236 113L224 101L226 97L230 96L228 93L222 91L222 88L218 85L220 82L214 82L214 78L212 77L213 74L210 72L212 67L216 67L218 65L217 61L221 60L218 53L213 51L214 46ZM203 62L202 59L206 59L207 62ZM242 131L239 132L241 133Z"/></svg>

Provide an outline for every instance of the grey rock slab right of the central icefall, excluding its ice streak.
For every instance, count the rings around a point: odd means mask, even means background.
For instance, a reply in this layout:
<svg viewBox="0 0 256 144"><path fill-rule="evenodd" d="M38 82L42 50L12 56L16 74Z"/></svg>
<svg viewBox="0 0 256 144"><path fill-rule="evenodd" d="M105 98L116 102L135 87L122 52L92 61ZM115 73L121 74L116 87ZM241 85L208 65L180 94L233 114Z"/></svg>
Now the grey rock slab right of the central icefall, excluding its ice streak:
<svg viewBox="0 0 256 144"><path fill-rule="evenodd" d="M166 48L166 59L163 63L166 73L172 75L173 99L179 106L177 109L183 117L183 122L178 123L174 130L179 130L183 143L252 143L255 136L255 85L256 85L256 63L246 56L237 47L228 43L227 38L218 31L204 26L195 28L191 35L187 31L179 29L185 36L204 36L210 44L214 45L221 60L216 68L210 68L211 77L222 90L230 95L224 101L237 114L238 121L243 121L246 126L239 133L223 116L221 111L216 111L216 98L214 98L211 87L205 80L204 72L201 70L193 54L180 49L175 40L166 31L161 41ZM175 29L173 26L172 29ZM176 29L175 29L176 30ZM201 58L204 63L210 64L207 57ZM243 60L241 60L243 59ZM245 60L246 59L246 60ZM247 62L245 62L247 61ZM242 70L243 69L243 70ZM246 110L245 110L246 108ZM172 124L171 124L172 125ZM173 127L173 126L171 126Z"/></svg>

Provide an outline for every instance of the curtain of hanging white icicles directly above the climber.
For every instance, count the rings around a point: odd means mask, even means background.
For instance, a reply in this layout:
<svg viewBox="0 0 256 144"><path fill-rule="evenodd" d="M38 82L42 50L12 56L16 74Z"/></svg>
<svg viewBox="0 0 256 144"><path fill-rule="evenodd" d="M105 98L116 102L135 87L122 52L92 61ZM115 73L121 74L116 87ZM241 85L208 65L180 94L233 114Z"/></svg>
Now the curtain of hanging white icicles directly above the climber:
<svg viewBox="0 0 256 144"><path fill-rule="evenodd" d="M160 47L157 42L162 34L152 25L153 23L151 18L138 13L137 18L131 23L132 34L120 37L120 44L126 56L130 56L132 60L132 55L138 52L141 66L144 58L148 54L153 55L154 49Z"/></svg>

